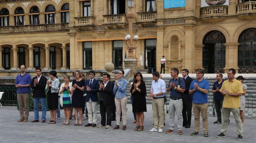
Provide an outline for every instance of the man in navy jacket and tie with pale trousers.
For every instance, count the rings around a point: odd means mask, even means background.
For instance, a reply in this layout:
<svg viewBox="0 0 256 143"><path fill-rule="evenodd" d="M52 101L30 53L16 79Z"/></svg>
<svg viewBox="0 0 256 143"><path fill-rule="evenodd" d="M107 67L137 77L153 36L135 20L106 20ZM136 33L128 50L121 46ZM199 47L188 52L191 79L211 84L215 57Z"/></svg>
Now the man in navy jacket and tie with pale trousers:
<svg viewBox="0 0 256 143"><path fill-rule="evenodd" d="M99 82L94 79L95 71L89 71L89 79L85 81L85 102L88 110L88 124L85 127L96 127L97 123L97 102L98 102L98 89Z"/></svg>

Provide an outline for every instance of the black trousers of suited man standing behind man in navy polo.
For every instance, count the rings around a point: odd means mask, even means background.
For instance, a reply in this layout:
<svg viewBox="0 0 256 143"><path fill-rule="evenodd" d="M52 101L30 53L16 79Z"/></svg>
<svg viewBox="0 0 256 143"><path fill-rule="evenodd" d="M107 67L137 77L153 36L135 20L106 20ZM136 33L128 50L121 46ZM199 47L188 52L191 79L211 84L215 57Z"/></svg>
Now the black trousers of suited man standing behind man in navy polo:
<svg viewBox="0 0 256 143"><path fill-rule="evenodd" d="M182 116L183 116L183 126L190 126L191 125L191 116L192 116L192 99L186 96L191 95L185 95L183 97L183 110L182 110Z"/></svg>

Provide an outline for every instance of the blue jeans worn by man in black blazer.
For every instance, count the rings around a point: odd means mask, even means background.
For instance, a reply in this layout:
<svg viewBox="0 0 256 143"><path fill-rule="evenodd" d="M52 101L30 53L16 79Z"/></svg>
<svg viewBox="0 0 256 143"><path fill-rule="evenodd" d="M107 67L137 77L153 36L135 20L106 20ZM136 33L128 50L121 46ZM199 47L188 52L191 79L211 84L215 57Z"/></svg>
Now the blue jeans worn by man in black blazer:
<svg viewBox="0 0 256 143"><path fill-rule="evenodd" d="M35 114L35 120L39 120L39 109L38 109L38 104L39 101L41 103L42 107L42 120L46 120L46 98L38 98L35 97L33 98L34 100L34 114Z"/></svg>

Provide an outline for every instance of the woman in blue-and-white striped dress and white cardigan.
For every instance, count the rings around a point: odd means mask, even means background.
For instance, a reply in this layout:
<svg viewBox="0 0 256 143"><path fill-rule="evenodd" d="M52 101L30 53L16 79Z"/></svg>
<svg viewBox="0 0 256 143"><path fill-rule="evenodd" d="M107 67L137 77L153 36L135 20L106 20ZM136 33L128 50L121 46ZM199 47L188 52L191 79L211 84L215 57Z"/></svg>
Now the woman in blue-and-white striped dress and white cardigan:
<svg viewBox="0 0 256 143"><path fill-rule="evenodd" d="M68 125L69 124L69 117L70 117L70 107L71 105L71 100L72 100L72 82L69 82L70 76L65 74L64 75L64 83L61 84L60 87L60 104L64 108L64 114L65 114L65 121L63 124Z"/></svg>

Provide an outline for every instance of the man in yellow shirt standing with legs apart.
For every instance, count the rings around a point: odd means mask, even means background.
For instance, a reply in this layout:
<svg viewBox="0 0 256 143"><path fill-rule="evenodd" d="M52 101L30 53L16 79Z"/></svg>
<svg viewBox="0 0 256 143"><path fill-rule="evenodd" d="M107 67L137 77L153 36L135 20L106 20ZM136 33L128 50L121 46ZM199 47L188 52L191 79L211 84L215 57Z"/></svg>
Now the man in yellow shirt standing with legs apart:
<svg viewBox="0 0 256 143"><path fill-rule="evenodd" d="M243 124L240 118L240 96L244 93L243 86L240 81L235 79L236 70L228 70L228 80L224 81L220 89L223 99L223 123L221 126L221 133L217 138L226 137L228 120L230 112L233 113L237 125L237 140L243 139Z"/></svg>

